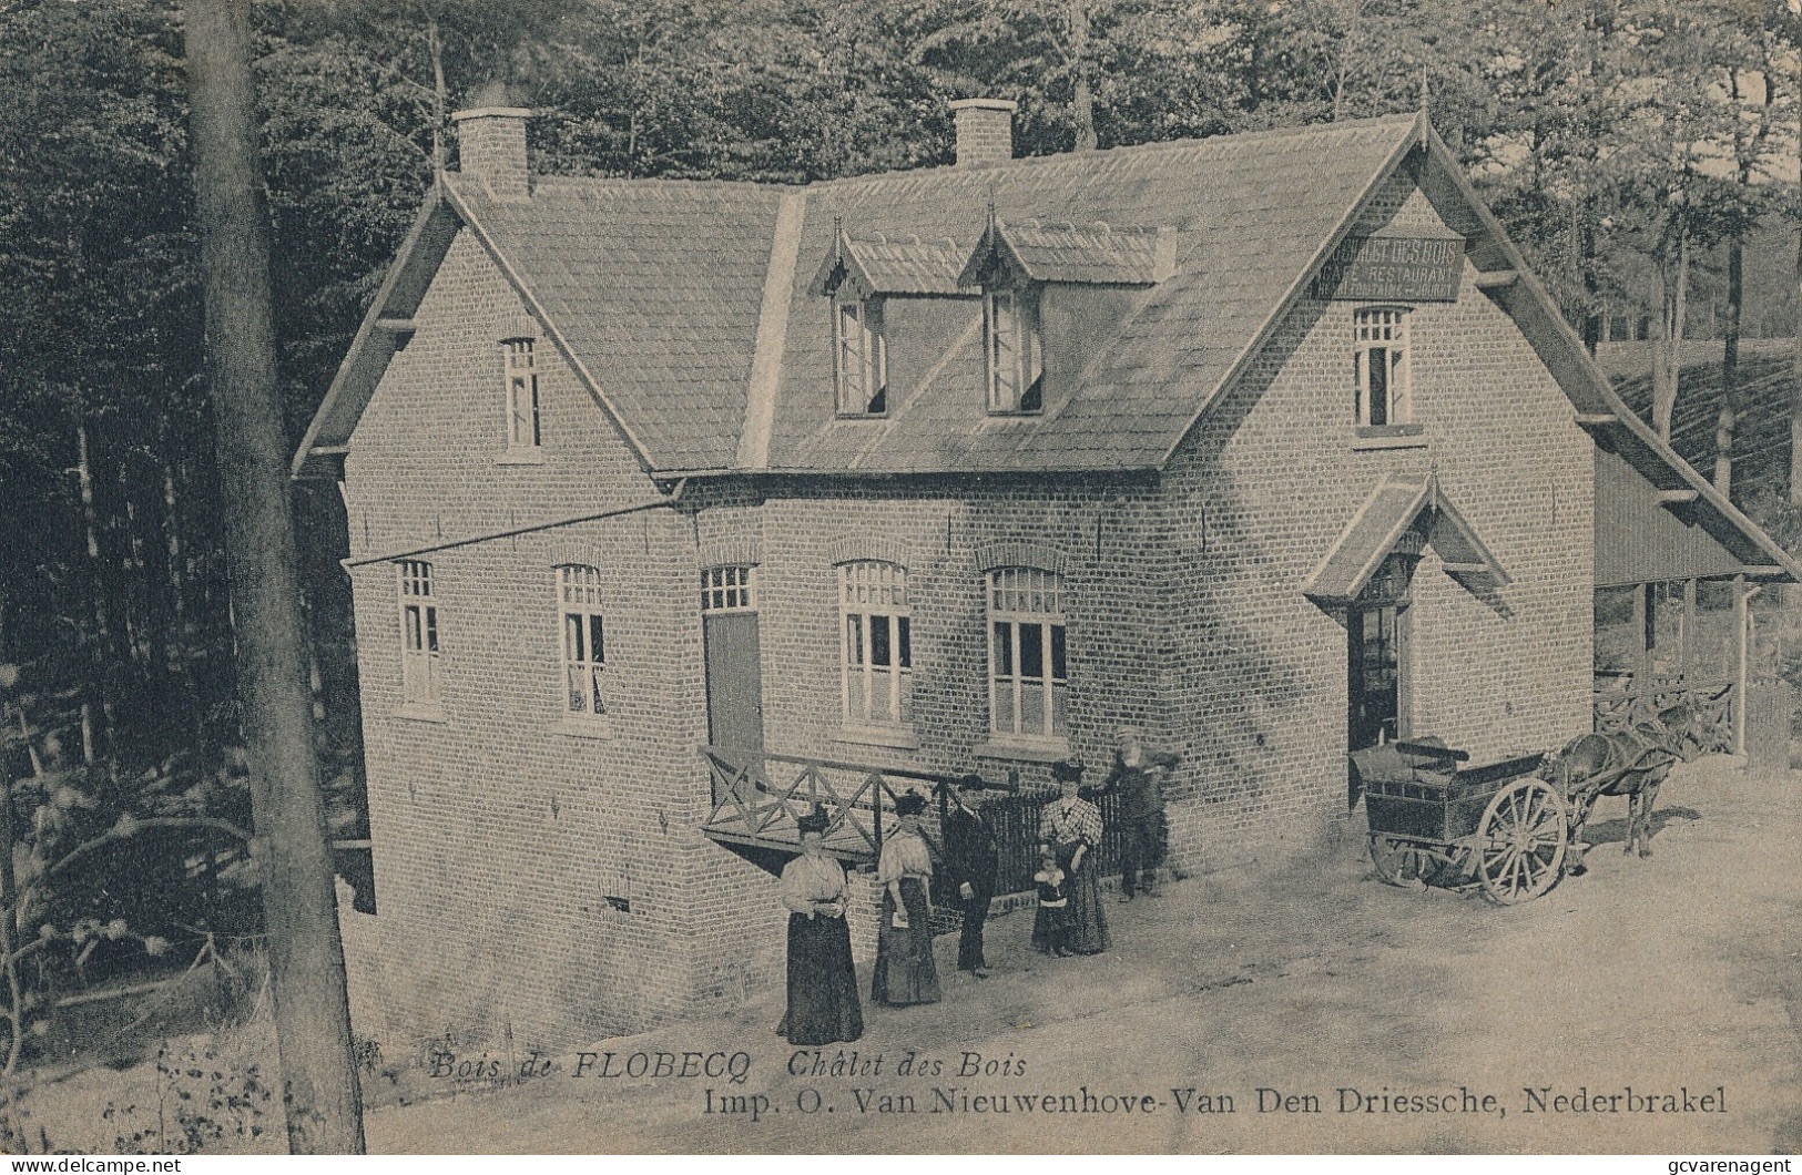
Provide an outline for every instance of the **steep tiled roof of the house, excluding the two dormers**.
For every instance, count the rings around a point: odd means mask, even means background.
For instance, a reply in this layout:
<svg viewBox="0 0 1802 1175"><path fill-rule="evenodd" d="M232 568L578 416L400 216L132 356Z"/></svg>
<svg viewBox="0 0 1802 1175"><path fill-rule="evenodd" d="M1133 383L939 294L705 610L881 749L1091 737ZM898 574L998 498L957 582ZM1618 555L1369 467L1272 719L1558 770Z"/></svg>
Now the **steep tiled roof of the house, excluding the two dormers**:
<svg viewBox="0 0 1802 1175"><path fill-rule="evenodd" d="M1157 470L1416 151L1420 184L1467 238L1479 285L1515 317L1579 416L1618 420L1607 443L1652 485L1696 490L1710 533L1739 557L1802 573L1625 409L1424 115L807 187L541 178L530 200L494 200L452 175L422 211L294 467L315 470L317 456L348 443L393 355L382 321L413 314L463 225L651 472ZM971 395L980 312L941 299L946 378L897 389L887 418L838 418L827 315L811 285L840 234L906 241L883 263L915 263L914 240L973 249L991 220L1103 222L1142 229L1141 240L1162 231L1175 236L1175 270L1137 296L1083 377L1040 414L991 416ZM1078 243L1063 238L1029 247Z"/></svg>

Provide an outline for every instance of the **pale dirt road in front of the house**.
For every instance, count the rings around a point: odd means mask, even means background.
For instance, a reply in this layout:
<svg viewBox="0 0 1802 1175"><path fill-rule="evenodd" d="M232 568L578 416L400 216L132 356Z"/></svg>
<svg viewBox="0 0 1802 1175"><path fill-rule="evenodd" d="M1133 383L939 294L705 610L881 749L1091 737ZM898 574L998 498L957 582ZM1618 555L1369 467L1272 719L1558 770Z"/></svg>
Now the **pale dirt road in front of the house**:
<svg viewBox="0 0 1802 1175"><path fill-rule="evenodd" d="M1115 948L1094 959L1033 953L1013 914L991 923L993 979L950 970L941 939L942 1004L865 1009L845 1049L863 1072L793 1076L771 997L598 1043L580 1078L564 1054L499 1088L447 1079L373 1110L369 1146L1795 1152L1802 773L1697 764L1667 784L1649 860L1620 854L1622 816L1604 800L1589 872L1523 906L1380 885L1348 847L1110 899ZM656 1078L658 1052L701 1072ZM966 1054L991 1072L960 1076Z"/></svg>

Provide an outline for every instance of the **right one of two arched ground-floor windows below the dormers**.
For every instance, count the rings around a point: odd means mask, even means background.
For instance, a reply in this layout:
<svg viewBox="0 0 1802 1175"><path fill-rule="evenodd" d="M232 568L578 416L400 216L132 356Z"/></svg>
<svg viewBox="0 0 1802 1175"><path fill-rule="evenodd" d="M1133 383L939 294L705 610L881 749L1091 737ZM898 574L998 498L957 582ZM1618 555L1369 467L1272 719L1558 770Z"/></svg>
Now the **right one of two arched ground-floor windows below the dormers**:
<svg viewBox="0 0 1802 1175"><path fill-rule="evenodd" d="M989 730L1060 737L1069 696L1063 577L1038 568L989 571Z"/></svg>

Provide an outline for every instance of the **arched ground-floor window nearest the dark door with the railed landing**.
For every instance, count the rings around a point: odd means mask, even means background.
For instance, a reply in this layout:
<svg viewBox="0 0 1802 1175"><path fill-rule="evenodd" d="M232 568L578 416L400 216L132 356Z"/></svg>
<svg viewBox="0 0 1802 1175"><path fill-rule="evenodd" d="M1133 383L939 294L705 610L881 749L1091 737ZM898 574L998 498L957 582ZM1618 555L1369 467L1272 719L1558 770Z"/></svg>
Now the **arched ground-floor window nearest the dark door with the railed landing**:
<svg viewBox="0 0 1802 1175"><path fill-rule="evenodd" d="M914 719L914 613L906 568L867 559L840 568L843 714L847 726Z"/></svg>

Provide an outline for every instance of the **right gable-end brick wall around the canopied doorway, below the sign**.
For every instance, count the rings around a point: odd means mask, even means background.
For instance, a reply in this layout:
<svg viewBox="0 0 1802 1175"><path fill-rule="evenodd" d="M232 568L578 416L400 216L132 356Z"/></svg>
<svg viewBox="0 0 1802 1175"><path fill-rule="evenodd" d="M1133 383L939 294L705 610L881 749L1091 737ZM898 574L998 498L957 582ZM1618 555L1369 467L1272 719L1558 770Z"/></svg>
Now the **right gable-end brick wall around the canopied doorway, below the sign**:
<svg viewBox="0 0 1802 1175"><path fill-rule="evenodd" d="M1411 180L1359 231L1443 232ZM1168 476L1164 730L1188 762L1171 811L1186 867L1294 849L1346 807L1346 634L1301 588L1388 470L1434 470L1512 577L1470 591L1431 548L1413 580L1415 735L1476 759L1589 724L1591 449L1570 400L1467 269L1411 314L1409 447L1361 445L1350 301L1303 301ZM1418 442L1418 445L1415 445Z"/></svg>

